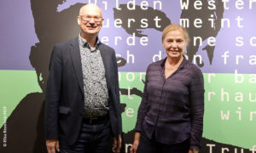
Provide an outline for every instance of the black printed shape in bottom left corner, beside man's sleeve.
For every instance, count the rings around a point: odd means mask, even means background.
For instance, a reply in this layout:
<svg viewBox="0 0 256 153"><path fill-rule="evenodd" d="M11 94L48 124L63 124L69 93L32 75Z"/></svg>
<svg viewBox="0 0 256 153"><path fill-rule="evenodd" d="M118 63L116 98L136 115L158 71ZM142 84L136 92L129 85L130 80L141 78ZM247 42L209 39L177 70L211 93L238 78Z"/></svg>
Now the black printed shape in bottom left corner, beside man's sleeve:
<svg viewBox="0 0 256 153"><path fill-rule="evenodd" d="M27 94L7 120L7 147L3 153L45 153L44 94ZM3 127L1 128L3 133ZM0 139L3 139L1 134Z"/></svg>

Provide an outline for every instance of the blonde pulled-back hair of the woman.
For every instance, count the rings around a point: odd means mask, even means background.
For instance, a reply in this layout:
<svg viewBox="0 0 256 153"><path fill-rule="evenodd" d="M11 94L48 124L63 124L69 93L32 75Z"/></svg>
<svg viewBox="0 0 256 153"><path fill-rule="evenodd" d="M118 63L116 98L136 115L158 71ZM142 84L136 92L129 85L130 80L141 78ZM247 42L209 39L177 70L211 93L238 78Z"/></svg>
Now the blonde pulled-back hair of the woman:
<svg viewBox="0 0 256 153"><path fill-rule="evenodd" d="M188 44L189 44L189 33L183 26L180 26L180 25L177 25L177 24L171 24L171 25L166 26L166 28L164 29L164 31L162 33L162 42L164 42L166 34L169 31L176 31L176 30L181 31L183 33L183 37L185 39L186 46L188 46Z"/></svg>

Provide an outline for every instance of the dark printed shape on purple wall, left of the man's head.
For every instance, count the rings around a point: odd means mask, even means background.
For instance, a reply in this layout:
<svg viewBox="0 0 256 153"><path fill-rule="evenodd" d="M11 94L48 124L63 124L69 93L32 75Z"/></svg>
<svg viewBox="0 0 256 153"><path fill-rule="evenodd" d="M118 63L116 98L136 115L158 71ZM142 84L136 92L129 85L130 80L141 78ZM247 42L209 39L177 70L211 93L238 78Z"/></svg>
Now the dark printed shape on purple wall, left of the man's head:
<svg viewBox="0 0 256 153"><path fill-rule="evenodd" d="M56 12L58 4L61 3L60 0L31 0L35 31L39 42L32 46L29 59L37 71L38 83L43 91L48 77L49 57L55 43L67 41L79 35L77 16L79 8L84 4L79 3L61 12Z"/></svg>

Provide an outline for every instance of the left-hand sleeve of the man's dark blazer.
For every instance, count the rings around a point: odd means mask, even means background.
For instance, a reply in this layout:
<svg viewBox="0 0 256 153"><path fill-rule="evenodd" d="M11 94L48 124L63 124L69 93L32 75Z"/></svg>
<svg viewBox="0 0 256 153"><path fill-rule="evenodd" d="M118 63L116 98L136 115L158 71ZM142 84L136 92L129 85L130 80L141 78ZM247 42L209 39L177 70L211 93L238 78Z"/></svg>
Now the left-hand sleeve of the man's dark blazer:
<svg viewBox="0 0 256 153"><path fill-rule="evenodd" d="M49 77L45 102L45 137L58 139L58 108L61 99L61 49L52 51L49 62Z"/></svg>

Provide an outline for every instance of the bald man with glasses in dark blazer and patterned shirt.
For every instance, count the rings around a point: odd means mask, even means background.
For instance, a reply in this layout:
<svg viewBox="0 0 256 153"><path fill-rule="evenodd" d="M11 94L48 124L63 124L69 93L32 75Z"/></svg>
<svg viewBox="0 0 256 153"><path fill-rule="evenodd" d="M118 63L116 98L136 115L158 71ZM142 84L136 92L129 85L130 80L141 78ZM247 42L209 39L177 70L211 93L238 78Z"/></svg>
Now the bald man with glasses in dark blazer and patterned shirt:
<svg viewBox="0 0 256 153"><path fill-rule="evenodd" d="M108 152L121 147L118 68L113 48L98 39L102 10L80 8L79 37L55 45L46 89L45 134L49 153Z"/></svg>

